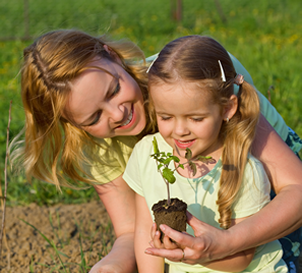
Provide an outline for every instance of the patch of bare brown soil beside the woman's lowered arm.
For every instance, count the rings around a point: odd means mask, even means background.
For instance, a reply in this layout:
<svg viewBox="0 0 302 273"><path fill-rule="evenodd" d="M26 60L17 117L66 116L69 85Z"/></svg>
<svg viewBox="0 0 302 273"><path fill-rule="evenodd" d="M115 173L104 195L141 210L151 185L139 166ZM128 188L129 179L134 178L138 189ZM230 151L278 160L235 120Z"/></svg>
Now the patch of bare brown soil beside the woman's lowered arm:
<svg viewBox="0 0 302 273"><path fill-rule="evenodd" d="M92 267L110 251L115 240L109 216L100 201L54 207L35 204L9 207L5 222L9 251L3 240L0 261L3 273L63 272L62 263L67 272L88 272L84 263ZM60 254L62 262L39 232L67 256Z"/></svg>

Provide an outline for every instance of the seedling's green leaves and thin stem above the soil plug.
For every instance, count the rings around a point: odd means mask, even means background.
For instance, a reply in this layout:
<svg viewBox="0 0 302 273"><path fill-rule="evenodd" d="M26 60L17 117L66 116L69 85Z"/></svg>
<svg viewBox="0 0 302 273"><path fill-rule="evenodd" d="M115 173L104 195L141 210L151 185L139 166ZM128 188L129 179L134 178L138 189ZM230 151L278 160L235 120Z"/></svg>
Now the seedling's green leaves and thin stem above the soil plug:
<svg viewBox="0 0 302 273"><path fill-rule="evenodd" d="M185 163L180 164L179 163L180 159L177 156L173 155L172 153L165 153L165 152L161 152L159 150L157 140L155 137L153 138L152 143L153 143L154 154L152 154L151 157L155 159L156 164L157 164L157 170L160 172L164 182L166 183L167 194L168 194L167 205L170 206L171 197L170 197L169 184L173 184L176 181L174 172L178 168L184 169L184 165L188 164L190 169L192 170L193 176L194 176L197 172L197 168L196 168L196 164L193 161L201 161L201 162L207 163L212 159L212 157L198 155L198 156L192 158L192 151L189 148L187 148L186 154L185 154L185 158L187 159L187 161ZM169 164L171 161L174 161L175 163L178 164L173 170L169 168Z"/></svg>

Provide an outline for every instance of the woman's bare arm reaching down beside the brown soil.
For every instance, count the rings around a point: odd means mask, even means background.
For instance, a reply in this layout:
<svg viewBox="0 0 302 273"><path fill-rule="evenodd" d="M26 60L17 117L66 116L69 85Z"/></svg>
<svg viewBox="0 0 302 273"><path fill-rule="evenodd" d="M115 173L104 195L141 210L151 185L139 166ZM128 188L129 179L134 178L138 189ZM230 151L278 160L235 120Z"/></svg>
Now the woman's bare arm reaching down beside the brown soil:
<svg viewBox="0 0 302 273"><path fill-rule="evenodd" d="M96 185L106 207L117 237L110 253L95 264L90 273L137 272L134 255L135 193L122 176L102 185Z"/></svg>

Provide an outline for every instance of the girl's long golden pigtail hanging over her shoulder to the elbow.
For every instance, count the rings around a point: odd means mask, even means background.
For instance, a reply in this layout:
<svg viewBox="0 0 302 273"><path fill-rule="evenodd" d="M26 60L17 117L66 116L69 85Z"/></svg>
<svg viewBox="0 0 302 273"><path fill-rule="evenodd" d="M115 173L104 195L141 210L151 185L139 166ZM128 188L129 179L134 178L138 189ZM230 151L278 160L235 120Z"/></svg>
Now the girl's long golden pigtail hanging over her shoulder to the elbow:
<svg viewBox="0 0 302 273"><path fill-rule="evenodd" d="M219 223L229 228L232 219L232 205L241 187L248 153L255 137L259 119L260 104L256 90L247 82L240 86L238 109L232 119L223 125L224 149L223 169L218 192ZM236 167L237 166L237 167Z"/></svg>

